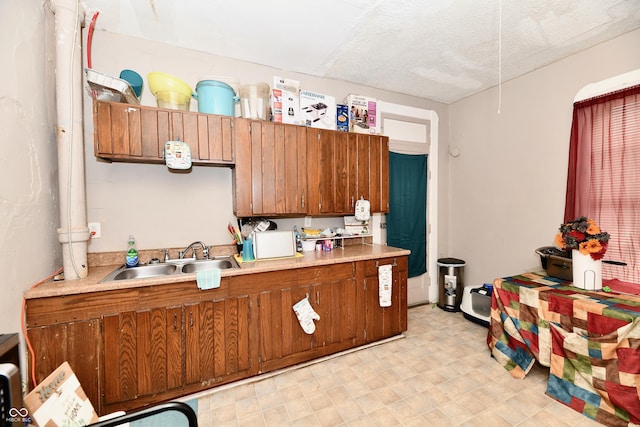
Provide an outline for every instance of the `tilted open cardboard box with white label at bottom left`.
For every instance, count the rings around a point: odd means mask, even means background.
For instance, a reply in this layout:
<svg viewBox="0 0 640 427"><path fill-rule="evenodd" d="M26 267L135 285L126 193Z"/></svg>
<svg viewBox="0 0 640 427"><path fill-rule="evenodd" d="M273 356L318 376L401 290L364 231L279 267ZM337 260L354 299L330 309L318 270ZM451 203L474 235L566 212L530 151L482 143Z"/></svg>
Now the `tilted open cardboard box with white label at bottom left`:
<svg viewBox="0 0 640 427"><path fill-rule="evenodd" d="M29 415L40 427L81 426L98 421L98 414L64 362L24 399Z"/></svg>

